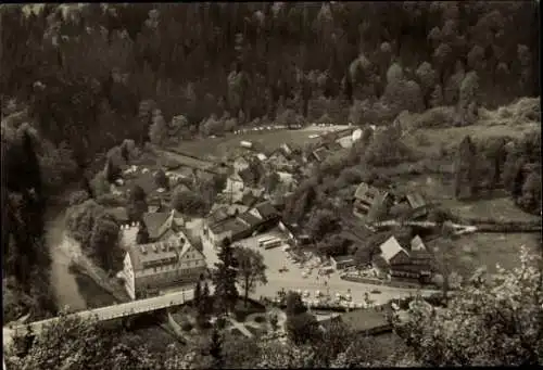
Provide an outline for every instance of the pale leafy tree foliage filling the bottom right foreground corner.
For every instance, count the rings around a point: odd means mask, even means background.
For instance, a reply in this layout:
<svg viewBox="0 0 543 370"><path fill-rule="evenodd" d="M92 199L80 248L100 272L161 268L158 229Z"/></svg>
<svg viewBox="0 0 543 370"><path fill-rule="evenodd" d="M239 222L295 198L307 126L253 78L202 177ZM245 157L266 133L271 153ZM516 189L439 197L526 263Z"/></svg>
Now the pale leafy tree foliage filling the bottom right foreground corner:
<svg viewBox="0 0 543 370"><path fill-rule="evenodd" d="M541 363L543 280L536 258L522 248L519 267L480 276L445 308L416 301L402 331L421 365Z"/></svg>

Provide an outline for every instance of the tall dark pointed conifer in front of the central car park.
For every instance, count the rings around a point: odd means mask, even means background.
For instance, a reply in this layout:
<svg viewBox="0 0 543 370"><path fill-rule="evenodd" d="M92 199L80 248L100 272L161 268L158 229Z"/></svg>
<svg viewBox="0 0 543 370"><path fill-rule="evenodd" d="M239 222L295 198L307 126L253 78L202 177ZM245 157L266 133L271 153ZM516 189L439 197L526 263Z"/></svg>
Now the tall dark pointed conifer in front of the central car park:
<svg viewBox="0 0 543 370"><path fill-rule="evenodd" d="M215 297L222 312L233 310L238 301L238 289L236 288L237 270L233 268L233 248L228 238L220 243L218 263L215 264L213 282L215 284Z"/></svg>

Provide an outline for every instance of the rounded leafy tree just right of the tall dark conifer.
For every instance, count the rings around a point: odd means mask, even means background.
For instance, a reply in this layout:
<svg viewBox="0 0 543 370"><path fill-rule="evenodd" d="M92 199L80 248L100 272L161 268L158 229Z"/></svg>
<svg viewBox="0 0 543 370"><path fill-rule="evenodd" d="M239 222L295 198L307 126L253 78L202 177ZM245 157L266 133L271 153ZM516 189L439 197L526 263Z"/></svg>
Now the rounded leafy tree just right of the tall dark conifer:
<svg viewBox="0 0 543 370"><path fill-rule="evenodd" d="M236 248L238 261L237 280L244 291L245 306L249 304L249 293L254 292L256 284L266 284L266 269L264 256L258 251L248 247Z"/></svg>

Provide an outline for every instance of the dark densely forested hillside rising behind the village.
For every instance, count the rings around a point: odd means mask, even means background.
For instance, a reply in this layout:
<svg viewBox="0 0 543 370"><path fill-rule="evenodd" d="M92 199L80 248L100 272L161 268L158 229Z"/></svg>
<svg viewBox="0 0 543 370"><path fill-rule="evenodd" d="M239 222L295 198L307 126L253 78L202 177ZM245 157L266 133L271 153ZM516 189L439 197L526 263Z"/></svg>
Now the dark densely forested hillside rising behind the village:
<svg viewBox="0 0 543 370"><path fill-rule="evenodd" d="M123 139L148 140L151 124L194 136L325 113L386 123L437 105L455 106L462 124L481 104L539 94L536 7L2 7L2 110L27 106L50 156L73 152L79 165Z"/></svg>

